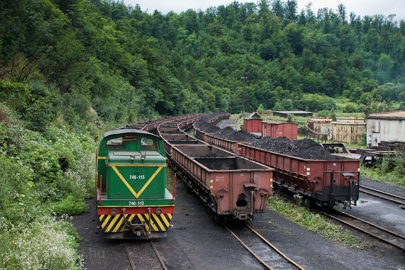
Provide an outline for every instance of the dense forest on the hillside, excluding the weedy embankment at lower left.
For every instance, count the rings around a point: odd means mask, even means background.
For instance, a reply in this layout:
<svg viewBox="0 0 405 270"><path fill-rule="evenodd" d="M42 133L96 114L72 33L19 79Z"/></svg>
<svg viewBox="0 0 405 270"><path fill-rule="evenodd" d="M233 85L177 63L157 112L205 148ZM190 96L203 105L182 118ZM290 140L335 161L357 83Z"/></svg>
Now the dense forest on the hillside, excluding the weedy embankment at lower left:
<svg viewBox="0 0 405 270"><path fill-rule="evenodd" d="M36 130L58 115L83 129L94 111L108 123L238 113L241 76L248 77L246 111L260 104L339 109L342 98L356 111L376 98L405 100L405 22L393 15L361 18L343 5L298 11L294 0L235 1L180 14L141 8L2 1L0 98Z"/></svg>

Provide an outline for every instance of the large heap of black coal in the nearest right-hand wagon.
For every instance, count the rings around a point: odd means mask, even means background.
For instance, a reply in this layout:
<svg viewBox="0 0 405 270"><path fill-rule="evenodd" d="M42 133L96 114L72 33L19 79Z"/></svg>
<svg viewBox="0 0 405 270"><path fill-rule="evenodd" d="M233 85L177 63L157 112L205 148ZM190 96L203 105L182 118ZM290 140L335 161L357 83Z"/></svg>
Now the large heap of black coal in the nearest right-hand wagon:
<svg viewBox="0 0 405 270"><path fill-rule="evenodd" d="M249 145L306 160L337 160L322 145L311 139L290 140L284 136L278 138L263 137Z"/></svg>

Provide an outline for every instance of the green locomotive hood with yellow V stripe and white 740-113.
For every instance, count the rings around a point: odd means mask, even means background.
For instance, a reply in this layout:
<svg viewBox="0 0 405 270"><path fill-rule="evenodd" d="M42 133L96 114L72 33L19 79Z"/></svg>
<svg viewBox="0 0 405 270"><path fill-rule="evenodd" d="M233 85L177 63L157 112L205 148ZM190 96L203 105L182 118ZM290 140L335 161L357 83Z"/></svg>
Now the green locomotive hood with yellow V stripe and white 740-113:
<svg viewBox="0 0 405 270"><path fill-rule="evenodd" d="M109 151L108 199L164 199L166 159L157 151Z"/></svg>

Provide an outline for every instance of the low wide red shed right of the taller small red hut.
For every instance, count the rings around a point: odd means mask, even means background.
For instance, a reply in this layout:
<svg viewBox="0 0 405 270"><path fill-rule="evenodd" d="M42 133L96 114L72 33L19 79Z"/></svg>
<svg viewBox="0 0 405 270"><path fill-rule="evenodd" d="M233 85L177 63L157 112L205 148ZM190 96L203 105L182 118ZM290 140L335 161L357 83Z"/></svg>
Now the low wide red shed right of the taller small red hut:
<svg viewBox="0 0 405 270"><path fill-rule="evenodd" d="M298 124L281 121L263 121L262 137L270 136L272 138L286 136L290 140L298 137Z"/></svg>

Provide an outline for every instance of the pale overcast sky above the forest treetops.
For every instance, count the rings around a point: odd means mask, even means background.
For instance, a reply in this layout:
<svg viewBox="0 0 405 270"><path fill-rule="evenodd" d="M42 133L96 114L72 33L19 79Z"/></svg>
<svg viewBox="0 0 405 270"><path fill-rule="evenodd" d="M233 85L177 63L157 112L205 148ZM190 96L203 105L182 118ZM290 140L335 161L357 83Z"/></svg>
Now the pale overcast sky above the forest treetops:
<svg viewBox="0 0 405 270"><path fill-rule="evenodd" d="M394 20L405 20L405 1L404 0L296 0L298 3L297 13L300 13L302 9L308 3L312 3L312 11L316 15L318 8L329 8L335 13L337 12L337 6L343 4L346 7L347 18L350 12L354 12L356 15L363 17L365 15L383 14L387 17L390 14L396 14ZM162 14L167 14L170 11L175 13L181 13L188 9L203 11L209 7L218 7L224 5L225 7L232 3L233 0L124 0L125 5L131 5L135 7L139 4L142 11L148 10L148 13L153 13L154 10L160 11ZM257 3L257 0L241 0L239 3ZM270 1L271 3L272 1ZM287 0L283 2L287 3Z"/></svg>

